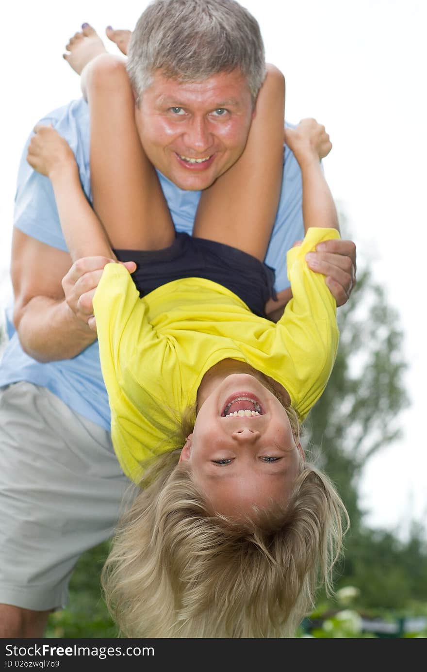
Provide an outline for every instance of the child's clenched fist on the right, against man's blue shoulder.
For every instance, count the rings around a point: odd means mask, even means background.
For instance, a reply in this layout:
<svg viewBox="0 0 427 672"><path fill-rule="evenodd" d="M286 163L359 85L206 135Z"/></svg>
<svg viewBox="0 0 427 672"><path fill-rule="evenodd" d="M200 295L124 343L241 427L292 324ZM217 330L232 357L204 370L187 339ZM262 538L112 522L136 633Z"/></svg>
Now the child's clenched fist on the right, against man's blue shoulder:
<svg viewBox="0 0 427 672"><path fill-rule="evenodd" d="M325 126L317 124L315 119L303 119L297 128L285 128L284 141L300 164L305 159L320 161L332 149Z"/></svg>

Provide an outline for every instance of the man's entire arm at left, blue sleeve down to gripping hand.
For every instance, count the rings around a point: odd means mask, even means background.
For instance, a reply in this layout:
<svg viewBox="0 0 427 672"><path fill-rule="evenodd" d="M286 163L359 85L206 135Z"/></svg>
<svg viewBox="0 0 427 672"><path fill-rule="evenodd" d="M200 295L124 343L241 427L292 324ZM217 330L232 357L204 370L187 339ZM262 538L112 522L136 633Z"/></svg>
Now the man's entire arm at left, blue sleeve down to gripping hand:
<svg viewBox="0 0 427 672"><path fill-rule="evenodd" d="M89 196L86 103L73 101L40 124L54 126L69 142ZM39 362L50 362L73 358L96 339L91 299L102 268L111 259L81 259L71 267L50 180L26 160L31 137L17 176L11 255L13 321L24 351Z"/></svg>

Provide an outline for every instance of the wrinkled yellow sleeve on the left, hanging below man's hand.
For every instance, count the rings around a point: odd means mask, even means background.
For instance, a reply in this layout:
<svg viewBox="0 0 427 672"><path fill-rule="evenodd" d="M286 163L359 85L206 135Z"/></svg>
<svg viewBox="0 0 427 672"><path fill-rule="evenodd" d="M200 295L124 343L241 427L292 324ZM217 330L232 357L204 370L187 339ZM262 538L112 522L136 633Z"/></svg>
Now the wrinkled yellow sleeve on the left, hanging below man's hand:
<svg viewBox="0 0 427 672"><path fill-rule="evenodd" d="M145 446L158 442L157 436L150 440L149 434L156 430L143 417L150 400L143 394L141 378L145 377L151 352L161 358L162 344L147 319L147 303L139 297L121 264L111 263L104 268L93 309L114 448L124 472L136 480L140 463L151 457Z"/></svg>

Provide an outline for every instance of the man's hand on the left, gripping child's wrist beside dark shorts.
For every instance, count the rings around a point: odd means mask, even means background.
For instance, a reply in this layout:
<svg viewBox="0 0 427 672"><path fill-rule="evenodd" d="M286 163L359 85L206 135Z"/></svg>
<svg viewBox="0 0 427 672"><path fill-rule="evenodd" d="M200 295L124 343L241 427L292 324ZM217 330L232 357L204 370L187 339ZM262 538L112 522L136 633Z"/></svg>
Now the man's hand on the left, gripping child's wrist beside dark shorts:
<svg viewBox="0 0 427 672"><path fill-rule="evenodd" d="M73 310L75 317L87 324L92 331L96 331L93 296L101 280L104 266L108 263L116 263L116 261L107 257L77 259L62 281L65 301L69 308ZM137 267L134 261L126 261L123 265L129 273L133 273Z"/></svg>

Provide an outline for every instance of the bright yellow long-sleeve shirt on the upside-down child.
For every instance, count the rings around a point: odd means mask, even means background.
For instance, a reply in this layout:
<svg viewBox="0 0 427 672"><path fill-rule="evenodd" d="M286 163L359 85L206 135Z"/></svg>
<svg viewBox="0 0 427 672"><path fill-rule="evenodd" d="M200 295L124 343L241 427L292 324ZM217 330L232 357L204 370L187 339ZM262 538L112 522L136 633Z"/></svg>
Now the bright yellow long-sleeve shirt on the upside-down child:
<svg viewBox="0 0 427 672"><path fill-rule="evenodd" d="M338 347L336 300L305 255L335 229L310 228L288 251L293 299L278 323L203 278L169 282L143 298L128 271L108 264L93 300L112 441L124 472L171 446L182 411L196 402L204 374L227 358L282 384L301 419L323 392Z"/></svg>

